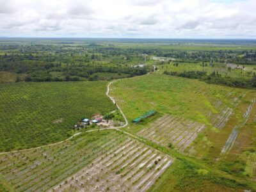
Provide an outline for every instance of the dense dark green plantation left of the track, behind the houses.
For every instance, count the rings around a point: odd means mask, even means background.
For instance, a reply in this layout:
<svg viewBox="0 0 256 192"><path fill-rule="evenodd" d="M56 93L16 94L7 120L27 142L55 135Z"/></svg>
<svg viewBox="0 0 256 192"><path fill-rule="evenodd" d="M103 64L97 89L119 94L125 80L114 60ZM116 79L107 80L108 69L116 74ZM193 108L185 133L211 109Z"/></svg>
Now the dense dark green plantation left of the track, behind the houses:
<svg viewBox="0 0 256 192"><path fill-rule="evenodd" d="M72 127L115 106L106 81L0 84L0 151L65 140Z"/></svg>

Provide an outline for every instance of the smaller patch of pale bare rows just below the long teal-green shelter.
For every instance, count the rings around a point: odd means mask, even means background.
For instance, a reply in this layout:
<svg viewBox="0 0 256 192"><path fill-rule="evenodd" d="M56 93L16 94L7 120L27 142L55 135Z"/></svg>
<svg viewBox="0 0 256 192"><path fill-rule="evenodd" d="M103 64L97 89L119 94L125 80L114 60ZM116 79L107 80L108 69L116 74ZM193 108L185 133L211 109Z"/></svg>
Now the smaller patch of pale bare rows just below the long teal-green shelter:
<svg viewBox="0 0 256 192"><path fill-rule="evenodd" d="M196 139L204 124L178 116L164 115L138 132L138 135L156 143L184 151Z"/></svg>

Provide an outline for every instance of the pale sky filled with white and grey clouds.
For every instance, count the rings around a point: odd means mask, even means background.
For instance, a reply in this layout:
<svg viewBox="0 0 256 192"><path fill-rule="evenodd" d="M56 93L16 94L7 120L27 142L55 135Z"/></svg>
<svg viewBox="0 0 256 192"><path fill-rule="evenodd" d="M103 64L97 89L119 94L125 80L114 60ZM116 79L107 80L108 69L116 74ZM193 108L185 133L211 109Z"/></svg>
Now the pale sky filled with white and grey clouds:
<svg viewBox="0 0 256 192"><path fill-rule="evenodd" d="M0 0L0 36L256 38L256 0Z"/></svg>

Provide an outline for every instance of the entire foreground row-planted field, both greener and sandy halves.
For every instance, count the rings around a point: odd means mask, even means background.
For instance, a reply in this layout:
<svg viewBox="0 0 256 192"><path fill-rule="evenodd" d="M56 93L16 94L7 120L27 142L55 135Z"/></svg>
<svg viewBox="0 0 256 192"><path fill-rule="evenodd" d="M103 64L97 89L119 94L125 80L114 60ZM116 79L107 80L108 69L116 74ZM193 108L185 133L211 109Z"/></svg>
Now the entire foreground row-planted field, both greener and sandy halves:
<svg viewBox="0 0 256 192"><path fill-rule="evenodd" d="M145 191L173 161L124 134L96 131L58 145L1 155L0 172L17 191Z"/></svg>

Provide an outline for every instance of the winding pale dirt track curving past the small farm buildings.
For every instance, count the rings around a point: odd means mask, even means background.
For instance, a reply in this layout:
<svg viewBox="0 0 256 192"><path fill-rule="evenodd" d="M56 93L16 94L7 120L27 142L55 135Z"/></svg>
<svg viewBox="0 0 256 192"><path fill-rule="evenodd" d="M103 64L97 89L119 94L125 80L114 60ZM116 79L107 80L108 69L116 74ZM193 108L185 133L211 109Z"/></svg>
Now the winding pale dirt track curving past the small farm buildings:
<svg viewBox="0 0 256 192"><path fill-rule="evenodd" d="M117 80L115 80L115 81L117 81ZM120 110L120 112L121 112L122 115L124 116L125 124L122 125L122 126L120 126L120 127L108 127L108 128L104 128L104 129L93 129L93 130L84 131L84 132L102 131L102 130L107 130L107 129L117 129L118 131L120 131L119 128L123 128L123 127L126 127L126 126L128 125L128 121L127 121L126 116L124 115L124 112L123 112L122 109L118 106L118 104L116 104L115 99L114 99L113 97L109 96L109 90L110 90L109 86L110 86L112 83L114 83L115 81L109 82L106 95L109 97L109 99L112 100L113 104L116 105L116 107ZM77 132L76 134L73 134L72 136L70 136L70 138L67 138L66 140L63 140L63 141L59 141L59 142L57 142L57 143L51 143L51 144L48 144L48 145L42 145L42 146L40 146L40 147L27 148L27 149L22 149L22 150L12 150L12 151L10 151L10 152L1 152L0 155L2 155L2 154L10 154L10 153L12 153L12 152L29 151L29 150L34 150L34 149L36 149L36 148L49 147L49 146L51 146L51 145L57 145L57 144L60 144L60 143L65 142L65 141L68 141L68 140L74 138L75 136L77 136L77 135L79 135L79 134L82 134L82 133L84 133L84 132ZM123 132L123 131L121 131L121 132ZM126 132L125 132L125 133L126 133ZM132 135L132 136L133 136L133 135ZM137 138L136 136L133 136L133 137ZM138 139L139 139L139 138L138 138Z"/></svg>

